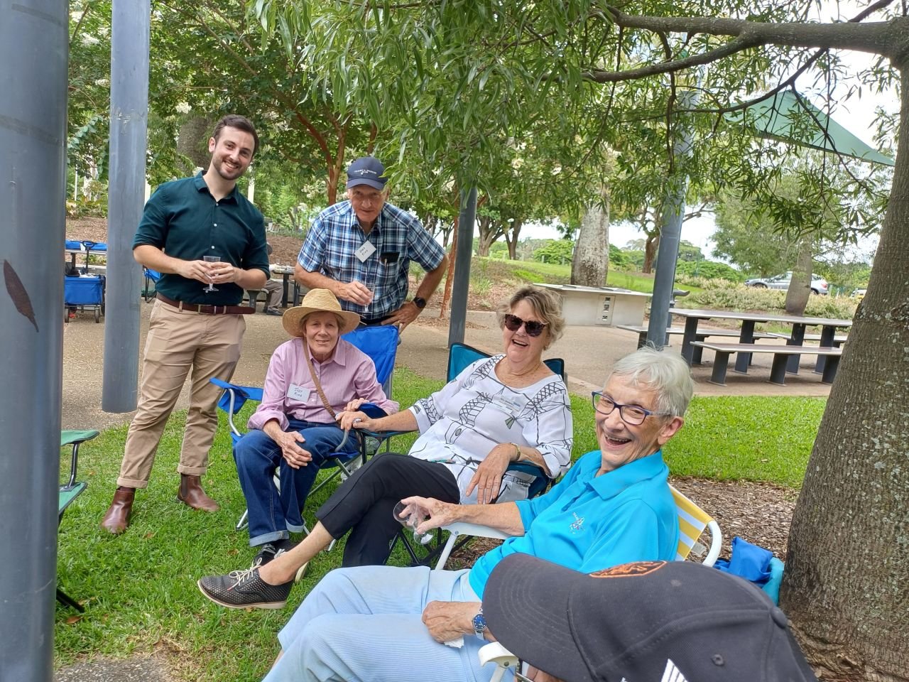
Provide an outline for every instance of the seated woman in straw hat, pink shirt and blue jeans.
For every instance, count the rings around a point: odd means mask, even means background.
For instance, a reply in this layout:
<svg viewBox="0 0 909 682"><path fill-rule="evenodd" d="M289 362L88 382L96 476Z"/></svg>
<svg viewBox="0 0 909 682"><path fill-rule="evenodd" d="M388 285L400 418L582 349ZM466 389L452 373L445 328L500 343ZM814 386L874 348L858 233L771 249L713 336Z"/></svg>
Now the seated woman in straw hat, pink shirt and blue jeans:
<svg viewBox="0 0 909 682"><path fill-rule="evenodd" d="M398 409L376 381L369 356L340 338L360 324L360 316L342 310L332 292L312 289L282 322L293 338L275 348L251 430L234 448L249 544L259 548L255 564L293 547L290 533L303 531L300 511L315 475L345 439L335 416L366 401L389 413ZM349 443L353 455L355 439ZM272 482L276 466L280 493Z"/></svg>

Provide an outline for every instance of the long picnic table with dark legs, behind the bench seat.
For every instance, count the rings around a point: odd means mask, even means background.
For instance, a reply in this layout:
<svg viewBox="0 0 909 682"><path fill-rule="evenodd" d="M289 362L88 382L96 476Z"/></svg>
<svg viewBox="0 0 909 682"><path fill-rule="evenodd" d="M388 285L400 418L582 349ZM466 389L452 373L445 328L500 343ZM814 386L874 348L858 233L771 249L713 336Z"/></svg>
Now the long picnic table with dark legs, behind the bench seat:
<svg viewBox="0 0 909 682"><path fill-rule="evenodd" d="M744 345L754 344L754 324L757 322L779 322L792 325L793 330L786 340L786 346L802 346L804 343L804 330L806 326L820 326L820 347L833 347L837 327L850 327L852 320L839 320L828 317L811 317L795 315L774 315L772 313L737 313L731 310L689 310L685 308L672 308L673 315L684 317L684 334L682 335L682 356L691 365L694 356L692 342L698 336L697 326L701 320L721 319L735 320L742 323L739 331L739 343ZM814 371L824 373L824 363L818 358ZM790 356L787 361L786 371L790 374L798 373L799 356ZM751 363L751 353L739 352L735 357L735 371L742 374L748 372Z"/></svg>

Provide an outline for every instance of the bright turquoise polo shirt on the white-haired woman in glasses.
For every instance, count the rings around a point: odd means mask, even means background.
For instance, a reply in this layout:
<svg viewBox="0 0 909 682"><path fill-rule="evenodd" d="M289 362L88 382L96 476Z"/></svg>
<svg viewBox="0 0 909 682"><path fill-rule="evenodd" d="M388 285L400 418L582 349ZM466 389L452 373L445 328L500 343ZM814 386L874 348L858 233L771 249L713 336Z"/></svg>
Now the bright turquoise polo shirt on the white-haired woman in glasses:
<svg viewBox="0 0 909 682"><path fill-rule="evenodd" d="M630 561L672 561L679 524L669 467L660 451L602 476L600 451L574 463L545 495L515 502L524 535L509 537L470 569L470 587L483 597L486 580L516 552L582 573Z"/></svg>

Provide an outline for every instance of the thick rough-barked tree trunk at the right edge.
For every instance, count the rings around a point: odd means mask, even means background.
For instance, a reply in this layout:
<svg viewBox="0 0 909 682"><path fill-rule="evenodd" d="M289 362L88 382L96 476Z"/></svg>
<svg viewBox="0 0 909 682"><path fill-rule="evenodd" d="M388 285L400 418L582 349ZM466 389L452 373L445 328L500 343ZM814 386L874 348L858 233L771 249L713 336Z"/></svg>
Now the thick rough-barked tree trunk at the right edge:
<svg viewBox="0 0 909 682"><path fill-rule="evenodd" d="M782 606L830 677L909 679L909 74L868 293L795 506Z"/></svg>

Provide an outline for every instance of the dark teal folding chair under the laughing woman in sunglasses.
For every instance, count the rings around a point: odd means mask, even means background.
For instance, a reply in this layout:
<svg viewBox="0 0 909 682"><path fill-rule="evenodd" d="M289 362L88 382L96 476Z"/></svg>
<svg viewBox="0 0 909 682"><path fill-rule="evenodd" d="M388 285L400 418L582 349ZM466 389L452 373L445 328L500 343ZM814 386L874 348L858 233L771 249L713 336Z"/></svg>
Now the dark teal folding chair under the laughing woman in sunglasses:
<svg viewBox="0 0 909 682"><path fill-rule="evenodd" d="M463 372L466 366L476 360L482 360L484 357L489 357L489 354L484 353L482 350L474 348L473 346L455 342L448 349L448 371L446 373L446 381L451 381L455 376L458 376ZM562 380L566 381L565 363L561 357L551 357L548 360L544 360L544 363L554 374L561 376ZM528 497L542 495L546 488L553 482L553 479L546 476L546 473L542 468L529 462L513 462L506 470L522 471L526 474L536 476L527 490ZM441 537L442 531L444 530L449 531L449 537L445 544L442 544ZM405 550L407 551L407 554L410 555L411 562L414 566L432 566L432 563L438 558L436 568L440 568L445 565L445 561L453 551L464 547L464 545L470 542L472 537L474 536L472 536L469 531L464 531L464 529L460 527L457 529L447 527L439 528L436 532L435 547L430 549L425 557L417 556L415 548L407 538L407 534L404 532L403 528L398 530L398 534L395 536L395 543L400 541L404 544ZM393 544L392 548L394 549L394 547L395 545Z"/></svg>

